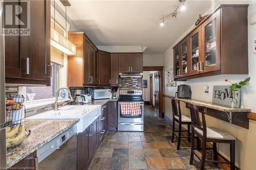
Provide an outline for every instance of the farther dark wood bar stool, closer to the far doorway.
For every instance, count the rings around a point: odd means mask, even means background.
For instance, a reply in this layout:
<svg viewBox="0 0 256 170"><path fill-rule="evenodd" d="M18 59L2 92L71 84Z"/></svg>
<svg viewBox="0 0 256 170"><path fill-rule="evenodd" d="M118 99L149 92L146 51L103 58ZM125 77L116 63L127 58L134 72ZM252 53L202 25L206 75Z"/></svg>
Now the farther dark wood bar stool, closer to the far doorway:
<svg viewBox="0 0 256 170"><path fill-rule="evenodd" d="M191 140L190 136L190 125L191 119L188 116L182 115L180 110L180 101L172 99L173 107L173 132L172 132L172 143L174 142L174 136L178 138L177 150L180 149L180 140L181 138L187 138L188 142ZM179 129L175 130L175 122L178 123ZM181 125L187 125L187 130L181 130ZM178 132L178 136L175 134ZM181 132L187 132L187 136L181 136Z"/></svg>

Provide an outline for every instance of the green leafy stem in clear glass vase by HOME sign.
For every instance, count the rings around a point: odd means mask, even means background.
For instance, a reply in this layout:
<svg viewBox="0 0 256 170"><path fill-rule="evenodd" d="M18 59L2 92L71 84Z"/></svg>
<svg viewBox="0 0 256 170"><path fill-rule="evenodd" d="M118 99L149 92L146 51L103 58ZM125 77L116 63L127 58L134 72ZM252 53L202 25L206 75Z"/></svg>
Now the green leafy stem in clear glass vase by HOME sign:
<svg viewBox="0 0 256 170"><path fill-rule="evenodd" d="M239 83L231 83L227 79L225 81L231 84L231 86L229 87L232 94L231 107L240 107L240 103L238 103L238 93L241 93L241 87L245 86L250 81L250 77L248 77L244 81L240 81Z"/></svg>

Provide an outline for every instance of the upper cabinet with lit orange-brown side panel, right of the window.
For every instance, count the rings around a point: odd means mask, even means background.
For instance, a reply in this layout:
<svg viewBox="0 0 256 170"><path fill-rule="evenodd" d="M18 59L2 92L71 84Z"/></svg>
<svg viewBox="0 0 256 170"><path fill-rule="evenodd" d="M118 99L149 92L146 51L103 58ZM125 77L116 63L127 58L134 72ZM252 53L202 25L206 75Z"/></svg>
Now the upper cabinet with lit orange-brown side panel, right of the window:
<svg viewBox="0 0 256 170"><path fill-rule="evenodd" d="M76 54L68 56L68 87L96 85L98 49L83 32L69 32Z"/></svg>

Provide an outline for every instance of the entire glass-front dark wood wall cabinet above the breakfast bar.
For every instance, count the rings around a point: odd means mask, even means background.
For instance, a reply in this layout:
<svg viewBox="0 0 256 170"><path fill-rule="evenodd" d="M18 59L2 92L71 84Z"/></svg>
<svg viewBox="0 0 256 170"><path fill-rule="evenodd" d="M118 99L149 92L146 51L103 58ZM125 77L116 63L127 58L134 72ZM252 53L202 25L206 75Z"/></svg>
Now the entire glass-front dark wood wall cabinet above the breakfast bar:
<svg viewBox="0 0 256 170"><path fill-rule="evenodd" d="M248 74L247 7L220 5L173 47L176 81Z"/></svg>

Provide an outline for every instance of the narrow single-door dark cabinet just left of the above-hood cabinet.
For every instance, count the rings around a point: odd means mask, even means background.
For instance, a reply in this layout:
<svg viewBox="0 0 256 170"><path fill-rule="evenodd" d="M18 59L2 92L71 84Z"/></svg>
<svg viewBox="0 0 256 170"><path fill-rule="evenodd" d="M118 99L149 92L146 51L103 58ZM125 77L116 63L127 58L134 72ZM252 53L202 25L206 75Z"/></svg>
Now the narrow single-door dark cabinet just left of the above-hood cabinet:
<svg viewBox="0 0 256 170"><path fill-rule="evenodd" d="M112 53L110 56L110 69L111 69L111 85L118 86L118 78L119 78L119 71L118 71L118 54Z"/></svg>

